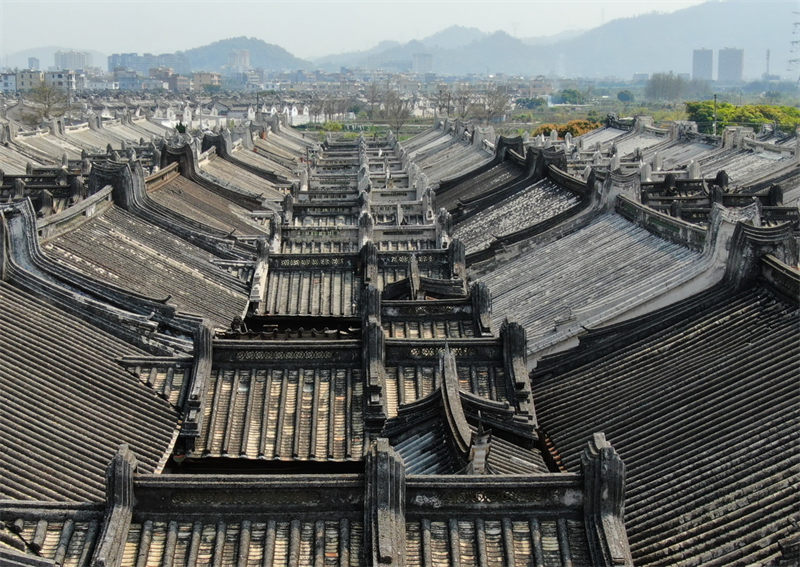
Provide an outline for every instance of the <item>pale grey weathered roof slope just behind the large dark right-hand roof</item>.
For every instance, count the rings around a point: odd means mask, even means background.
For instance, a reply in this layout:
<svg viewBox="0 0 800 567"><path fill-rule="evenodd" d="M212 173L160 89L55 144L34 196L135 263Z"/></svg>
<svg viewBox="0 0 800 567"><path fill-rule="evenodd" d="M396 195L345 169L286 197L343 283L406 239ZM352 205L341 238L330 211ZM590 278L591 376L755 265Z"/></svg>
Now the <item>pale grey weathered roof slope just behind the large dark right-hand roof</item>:
<svg viewBox="0 0 800 567"><path fill-rule="evenodd" d="M555 242L499 262L479 280L492 292L495 323L511 316L528 333L528 347L546 344L561 323L580 322L623 298L652 297L692 277L703 256L662 240L608 213Z"/></svg>

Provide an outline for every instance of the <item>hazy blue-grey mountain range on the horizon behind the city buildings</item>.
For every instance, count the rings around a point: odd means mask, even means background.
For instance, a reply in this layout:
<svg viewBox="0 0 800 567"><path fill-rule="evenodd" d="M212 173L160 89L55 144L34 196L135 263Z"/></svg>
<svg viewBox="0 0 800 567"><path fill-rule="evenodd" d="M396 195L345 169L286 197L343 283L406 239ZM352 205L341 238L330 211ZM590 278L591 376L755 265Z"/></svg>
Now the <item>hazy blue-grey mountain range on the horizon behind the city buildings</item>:
<svg viewBox="0 0 800 567"><path fill-rule="evenodd" d="M725 47L744 50L744 75L766 70L786 76L796 7L786 0L712 0L668 14L651 13L613 20L586 31L516 38L498 31L451 26L431 36L400 43L382 41L371 49L332 54L312 61L295 57L261 39L236 37L184 51L192 70L219 71L235 49L250 51L253 67L270 71L342 67L388 71L412 70L415 55L430 55L431 71L444 75L558 75L630 78L634 73L691 72L692 51ZM36 56L52 64L57 47L11 54L4 63L24 67ZM49 52L49 54L48 54ZM715 65L717 54L714 56ZM94 53L94 64L104 56ZM796 71L795 71L796 73ZM796 76L796 75L795 75Z"/></svg>

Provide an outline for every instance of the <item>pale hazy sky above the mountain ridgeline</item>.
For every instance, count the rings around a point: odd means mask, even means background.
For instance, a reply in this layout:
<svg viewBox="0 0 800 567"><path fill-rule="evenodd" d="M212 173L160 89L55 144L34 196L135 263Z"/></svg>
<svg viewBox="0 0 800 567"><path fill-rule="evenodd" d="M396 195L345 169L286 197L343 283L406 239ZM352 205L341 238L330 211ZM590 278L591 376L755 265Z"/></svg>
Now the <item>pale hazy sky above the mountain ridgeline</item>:
<svg viewBox="0 0 800 567"><path fill-rule="evenodd" d="M421 39L450 25L540 37L703 0L0 0L0 55L44 46L165 53L234 36L299 57Z"/></svg>

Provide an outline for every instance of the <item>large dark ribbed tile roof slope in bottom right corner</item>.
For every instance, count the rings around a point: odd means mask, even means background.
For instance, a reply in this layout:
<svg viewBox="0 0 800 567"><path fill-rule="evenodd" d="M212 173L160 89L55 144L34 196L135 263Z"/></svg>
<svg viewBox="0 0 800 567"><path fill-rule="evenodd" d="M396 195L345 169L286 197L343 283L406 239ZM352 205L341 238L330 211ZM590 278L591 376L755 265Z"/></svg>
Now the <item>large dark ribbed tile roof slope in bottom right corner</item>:
<svg viewBox="0 0 800 567"><path fill-rule="evenodd" d="M593 431L624 460L636 565L765 565L796 533L798 321L764 287L722 286L590 333L534 372L568 468Z"/></svg>

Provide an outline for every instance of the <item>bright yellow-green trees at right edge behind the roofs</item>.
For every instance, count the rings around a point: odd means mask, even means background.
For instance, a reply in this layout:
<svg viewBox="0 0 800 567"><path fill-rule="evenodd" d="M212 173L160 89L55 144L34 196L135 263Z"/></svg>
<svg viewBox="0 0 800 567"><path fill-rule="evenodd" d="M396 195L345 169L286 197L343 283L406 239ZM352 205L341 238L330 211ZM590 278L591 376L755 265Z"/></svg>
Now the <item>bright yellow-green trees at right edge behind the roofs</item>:
<svg viewBox="0 0 800 567"><path fill-rule="evenodd" d="M687 102L689 120L697 122L701 132L714 129L714 101ZM800 109L793 106L772 104L744 104L737 106L729 102L717 103L717 132L725 126L752 126L773 124L778 129L791 133L800 125Z"/></svg>

